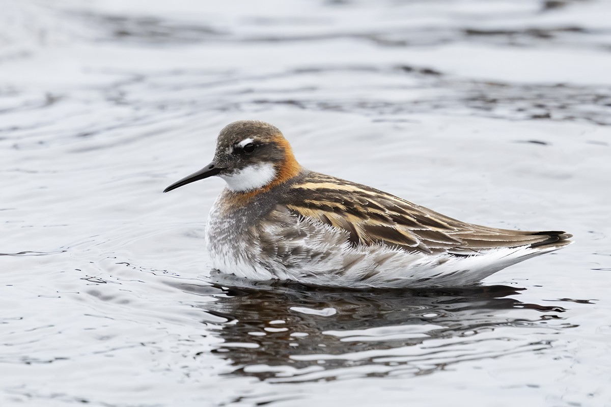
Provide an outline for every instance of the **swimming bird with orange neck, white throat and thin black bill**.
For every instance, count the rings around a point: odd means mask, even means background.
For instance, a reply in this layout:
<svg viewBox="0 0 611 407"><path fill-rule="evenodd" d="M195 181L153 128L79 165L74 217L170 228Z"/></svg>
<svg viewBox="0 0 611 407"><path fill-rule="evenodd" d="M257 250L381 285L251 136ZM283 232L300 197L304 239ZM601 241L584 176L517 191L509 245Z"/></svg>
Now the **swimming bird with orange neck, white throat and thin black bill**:
<svg viewBox="0 0 611 407"><path fill-rule="evenodd" d="M474 225L307 170L264 121L225 126L213 161L164 192L226 182L205 232L213 267L255 281L368 288L461 287L572 243L563 231Z"/></svg>

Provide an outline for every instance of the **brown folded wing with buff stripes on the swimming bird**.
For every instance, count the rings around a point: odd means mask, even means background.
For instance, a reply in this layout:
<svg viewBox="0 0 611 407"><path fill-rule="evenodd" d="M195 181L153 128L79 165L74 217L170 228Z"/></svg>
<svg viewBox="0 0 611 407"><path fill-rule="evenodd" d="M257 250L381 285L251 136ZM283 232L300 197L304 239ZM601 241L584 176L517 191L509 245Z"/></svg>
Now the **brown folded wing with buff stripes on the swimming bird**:
<svg viewBox="0 0 611 407"><path fill-rule="evenodd" d="M383 243L422 253L457 255L506 247L561 247L570 234L472 225L389 193L319 173L291 185L282 202L288 211L349 233L353 245Z"/></svg>

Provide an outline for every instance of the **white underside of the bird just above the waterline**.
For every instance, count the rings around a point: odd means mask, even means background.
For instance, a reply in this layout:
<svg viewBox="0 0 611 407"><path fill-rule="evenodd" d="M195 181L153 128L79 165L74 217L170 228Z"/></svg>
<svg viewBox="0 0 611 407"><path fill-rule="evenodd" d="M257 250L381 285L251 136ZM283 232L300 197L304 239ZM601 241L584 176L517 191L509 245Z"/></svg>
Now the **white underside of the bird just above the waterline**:
<svg viewBox="0 0 611 407"><path fill-rule="evenodd" d="M552 249L554 250L554 249ZM547 251L552 251L547 250ZM336 287L462 287L478 283L482 279L505 267L538 256L547 251L531 248L507 248L489 251L467 258L448 254L423 256L403 251L391 251L382 247L338 250L327 264L312 264L303 259L304 267L299 270L275 270L261 264L251 263L244 258L213 259L214 268L252 280L284 279L304 284ZM376 259L388 258L384 265L376 266ZM345 259L360 258L343 275L338 275L337 265ZM375 275L361 281L362 276Z"/></svg>

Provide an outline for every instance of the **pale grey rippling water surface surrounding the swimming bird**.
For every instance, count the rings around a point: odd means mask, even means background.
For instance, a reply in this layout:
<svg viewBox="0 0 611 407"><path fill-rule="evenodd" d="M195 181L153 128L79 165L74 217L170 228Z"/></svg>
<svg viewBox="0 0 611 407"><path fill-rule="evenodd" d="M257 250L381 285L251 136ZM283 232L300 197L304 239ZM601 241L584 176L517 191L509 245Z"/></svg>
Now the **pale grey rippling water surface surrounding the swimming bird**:
<svg viewBox="0 0 611 407"><path fill-rule="evenodd" d="M609 2L1 8L0 405L611 406ZM219 283L222 181L161 190L244 118L305 167L576 243L465 289Z"/></svg>

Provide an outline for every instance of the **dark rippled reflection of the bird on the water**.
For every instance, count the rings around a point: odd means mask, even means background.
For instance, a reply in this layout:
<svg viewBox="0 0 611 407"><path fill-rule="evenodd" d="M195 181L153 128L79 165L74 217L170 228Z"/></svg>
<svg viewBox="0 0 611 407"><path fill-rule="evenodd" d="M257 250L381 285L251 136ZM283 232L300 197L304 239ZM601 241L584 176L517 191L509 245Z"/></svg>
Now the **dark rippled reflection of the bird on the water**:
<svg viewBox="0 0 611 407"><path fill-rule="evenodd" d="M222 328L224 343L214 352L235 366L232 373L272 382L430 373L549 348L552 340L530 342L532 331L524 328L555 333L569 326L547 324L565 309L522 303L510 296L524 289L508 286L358 291L235 280L177 286L216 298L200 307L205 323Z"/></svg>

